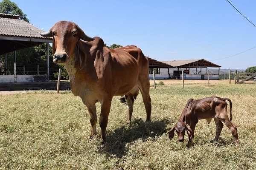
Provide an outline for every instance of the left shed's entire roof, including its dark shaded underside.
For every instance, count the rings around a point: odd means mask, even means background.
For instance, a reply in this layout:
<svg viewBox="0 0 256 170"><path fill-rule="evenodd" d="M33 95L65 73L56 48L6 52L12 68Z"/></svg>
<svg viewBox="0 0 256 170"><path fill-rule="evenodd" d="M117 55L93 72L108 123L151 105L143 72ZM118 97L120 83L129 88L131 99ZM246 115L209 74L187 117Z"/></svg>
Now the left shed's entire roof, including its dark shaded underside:
<svg viewBox="0 0 256 170"><path fill-rule="evenodd" d="M19 15L0 13L0 55L45 42L52 43L52 38L39 34L44 30L19 18Z"/></svg>

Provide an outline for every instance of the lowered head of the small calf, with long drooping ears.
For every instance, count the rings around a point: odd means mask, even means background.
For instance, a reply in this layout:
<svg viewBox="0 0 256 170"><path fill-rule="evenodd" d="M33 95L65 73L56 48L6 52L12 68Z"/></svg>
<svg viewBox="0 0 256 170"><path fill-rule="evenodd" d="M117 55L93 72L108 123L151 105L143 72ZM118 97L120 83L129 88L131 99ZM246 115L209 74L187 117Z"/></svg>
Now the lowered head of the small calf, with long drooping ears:
<svg viewBox="0 0 256 170"><path fill-rule="evenodd" d="M189 127L189 125L186 125L185 122L177 122L175 124L174 127L172 127L172 129L169 132L169 139L172 140L173 136L174 136L174 131L176 130L177 135L178 135L178 139L179 142L183 142L184 141L184 136L185 136L185 131L187 131L188 135L189 135L189 139L193 139L194 138L194 134L191 130L191 128Z"/></svg>

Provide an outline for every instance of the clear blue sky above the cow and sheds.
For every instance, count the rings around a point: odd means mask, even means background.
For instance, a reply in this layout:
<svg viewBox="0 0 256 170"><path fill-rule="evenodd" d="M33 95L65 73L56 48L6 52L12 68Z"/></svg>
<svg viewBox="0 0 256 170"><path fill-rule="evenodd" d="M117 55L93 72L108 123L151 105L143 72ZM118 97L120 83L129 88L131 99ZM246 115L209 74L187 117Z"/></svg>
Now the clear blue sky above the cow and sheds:
<svg viewBox="0 0 256 170"><path fill-rule="evenodd" d="M256 25L256 0L229 0L233 6L227 0L11 1L45 31L70 20L108 46L137 45L158 61L206 59L233 70L256 66L256 27L233 8Z"/></svg>

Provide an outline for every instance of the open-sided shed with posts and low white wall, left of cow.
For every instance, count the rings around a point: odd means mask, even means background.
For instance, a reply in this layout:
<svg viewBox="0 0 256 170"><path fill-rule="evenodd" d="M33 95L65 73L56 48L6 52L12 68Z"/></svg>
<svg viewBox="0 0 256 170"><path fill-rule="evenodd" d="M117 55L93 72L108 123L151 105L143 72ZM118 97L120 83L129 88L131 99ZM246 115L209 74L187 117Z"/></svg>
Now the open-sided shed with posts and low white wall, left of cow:
<svg viewBox="0 0 256 170"><path fill-rule="evenodd" d="M7 59L5 57L4 68L1 68L0 82L32 82L49 81L49 43L52 38L42 37L39 33L43 30L20 20L19 15L0 13L0 55L14 52L14 75L8 75ZM47 43L47 75L17 75L16 51Z"/></svg>

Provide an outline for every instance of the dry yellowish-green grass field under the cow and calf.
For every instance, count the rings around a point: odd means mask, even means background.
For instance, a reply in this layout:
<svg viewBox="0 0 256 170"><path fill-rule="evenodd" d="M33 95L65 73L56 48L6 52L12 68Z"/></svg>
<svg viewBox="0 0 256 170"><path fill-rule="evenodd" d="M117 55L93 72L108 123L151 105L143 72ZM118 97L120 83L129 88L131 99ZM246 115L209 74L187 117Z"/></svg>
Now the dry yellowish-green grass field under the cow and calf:
<svg viewBox="0 0 256 170"><path fill-rule="evenodd" d="M90 120L79 97L69 91L26 92L0 95L1 170L242 170L256 169L256 85L227 81L164 80L151 87L151 122L139 94L134 102L131 126L126 125L126 106L119 96L112 100L107 127L108 142L102 149L98 136L90 139ZM157 81L159 83L159 81ZM151 81L152 84L152 81ZM241 142L224 125L220 139L211 144L215 124L200 120L191 147L169 140L189 98L207 96L232 100L232 121ZM96 105L99 111L99 103ZM98 114L99 115L99 114Z"/></svg>

